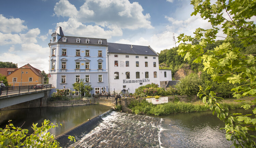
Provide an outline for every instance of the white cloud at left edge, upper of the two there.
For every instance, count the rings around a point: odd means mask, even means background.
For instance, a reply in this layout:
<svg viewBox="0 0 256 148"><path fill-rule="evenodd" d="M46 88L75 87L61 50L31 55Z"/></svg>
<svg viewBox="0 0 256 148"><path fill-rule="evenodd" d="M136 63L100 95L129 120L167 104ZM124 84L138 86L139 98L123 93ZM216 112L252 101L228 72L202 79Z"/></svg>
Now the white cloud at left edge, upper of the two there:
<svg viewBox="0 0 256 148"><path fill-rule="evenodd" d="M20 32L27 29L24 20L19 18L6 18L0 14L0 31L3 33Z"/></svg>

